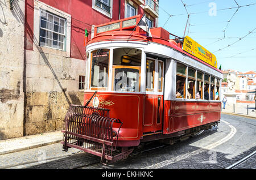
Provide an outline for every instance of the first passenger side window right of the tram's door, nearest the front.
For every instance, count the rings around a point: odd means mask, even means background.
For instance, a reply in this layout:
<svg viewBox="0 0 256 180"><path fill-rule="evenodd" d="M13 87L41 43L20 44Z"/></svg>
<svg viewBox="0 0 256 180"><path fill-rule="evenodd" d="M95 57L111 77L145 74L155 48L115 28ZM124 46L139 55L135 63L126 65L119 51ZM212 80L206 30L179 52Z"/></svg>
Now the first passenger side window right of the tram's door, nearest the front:
<svg viewBox="0 0 256 180"><path fill-rule="evenodd" d="M176 98L185 98L185 82L186 82L186 69L187 66L177 63L176 66Z"/></svg>

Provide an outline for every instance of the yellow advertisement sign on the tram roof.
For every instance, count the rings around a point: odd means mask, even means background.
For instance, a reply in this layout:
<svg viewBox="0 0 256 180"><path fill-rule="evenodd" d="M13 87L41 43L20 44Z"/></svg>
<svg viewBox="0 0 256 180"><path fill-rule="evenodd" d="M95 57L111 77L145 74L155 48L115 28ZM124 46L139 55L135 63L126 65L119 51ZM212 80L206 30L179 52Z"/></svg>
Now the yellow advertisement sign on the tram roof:
<svg viewBox="0 0 256 180"><path fill-rule="evenodd" d="M217 68L217 60L215 55L210 53L207 49L188 36L186 36L184 39L183 50Z"/></svg>

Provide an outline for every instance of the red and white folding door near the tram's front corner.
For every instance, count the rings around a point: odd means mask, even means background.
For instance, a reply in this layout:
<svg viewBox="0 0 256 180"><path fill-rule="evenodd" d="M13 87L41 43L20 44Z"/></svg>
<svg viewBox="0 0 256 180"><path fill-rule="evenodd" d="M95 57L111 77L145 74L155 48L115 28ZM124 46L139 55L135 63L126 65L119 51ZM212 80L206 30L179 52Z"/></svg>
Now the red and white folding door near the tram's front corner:
<svg viewBox="0 0 256 180"><path fill-rule="evenodd" d="M163 61L147 58L143 133L157 132L162 130L163 79Z"/></svg>

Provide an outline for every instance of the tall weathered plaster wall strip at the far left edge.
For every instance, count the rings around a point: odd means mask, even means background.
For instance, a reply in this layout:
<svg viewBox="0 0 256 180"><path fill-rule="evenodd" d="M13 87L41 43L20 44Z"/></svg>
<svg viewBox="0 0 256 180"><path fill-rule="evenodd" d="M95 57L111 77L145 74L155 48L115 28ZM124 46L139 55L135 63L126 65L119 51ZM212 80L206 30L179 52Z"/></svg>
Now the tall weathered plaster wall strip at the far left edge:
<svg viewBox="0 0 256 180"><path fill-rule="evenodd" d="M23 136L24 9L0 1L0 140Z"/></svg>

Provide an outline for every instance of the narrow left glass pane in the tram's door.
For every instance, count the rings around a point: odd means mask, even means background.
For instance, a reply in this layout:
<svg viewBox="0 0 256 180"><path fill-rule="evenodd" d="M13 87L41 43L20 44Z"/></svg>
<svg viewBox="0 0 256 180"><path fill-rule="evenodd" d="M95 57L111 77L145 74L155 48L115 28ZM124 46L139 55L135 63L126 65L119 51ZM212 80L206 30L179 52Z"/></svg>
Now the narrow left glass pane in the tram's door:
<svg viewBox="0 0 256 180"><path fill-rule="evenodd" d="M154 91L155 81L155 61L147 59L146 66L146 90Z"/></svg>

